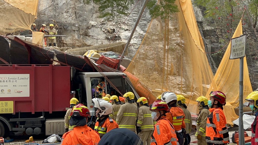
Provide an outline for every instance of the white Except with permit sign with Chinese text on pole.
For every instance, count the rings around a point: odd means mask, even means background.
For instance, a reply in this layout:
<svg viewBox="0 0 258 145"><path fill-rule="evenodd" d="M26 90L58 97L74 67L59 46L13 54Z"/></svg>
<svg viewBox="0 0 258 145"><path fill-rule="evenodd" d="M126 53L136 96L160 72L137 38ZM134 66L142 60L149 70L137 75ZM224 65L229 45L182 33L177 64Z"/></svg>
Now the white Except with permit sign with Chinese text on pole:
<svg viewBox="0 0 258 145"><path fill-rule="evenodd" d="M229 59L245 57L246 35L231 39L231 52Z"/></svg>

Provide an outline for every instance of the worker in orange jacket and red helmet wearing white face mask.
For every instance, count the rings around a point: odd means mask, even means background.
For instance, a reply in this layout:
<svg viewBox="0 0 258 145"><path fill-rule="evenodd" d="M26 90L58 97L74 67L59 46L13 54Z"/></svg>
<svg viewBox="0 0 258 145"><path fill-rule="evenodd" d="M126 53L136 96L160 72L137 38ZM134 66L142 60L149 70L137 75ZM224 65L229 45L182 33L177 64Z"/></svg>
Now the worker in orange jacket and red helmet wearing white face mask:
<svg viewBox="0 0 258 145"><path fill-rule="evenodd" d="M178 145L175 129L166 118L166 114L170 112L168 105L162 100L157 100L153 102L150 110L152 119L157 121L151 135L151 145Z"/></svg>

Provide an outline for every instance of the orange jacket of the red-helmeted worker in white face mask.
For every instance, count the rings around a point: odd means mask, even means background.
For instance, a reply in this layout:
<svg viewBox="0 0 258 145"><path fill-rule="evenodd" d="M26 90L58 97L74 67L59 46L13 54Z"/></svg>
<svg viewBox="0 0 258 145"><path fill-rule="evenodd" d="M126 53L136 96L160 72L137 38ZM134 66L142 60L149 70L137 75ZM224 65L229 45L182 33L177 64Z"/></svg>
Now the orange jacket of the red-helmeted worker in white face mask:
<svg viewBox="0 0 258 145"><path fill-rule="evenodd" d="M175 129L165 116L155 124L154 132L151 135L151 145L161 144L179 145Z"/></svg>

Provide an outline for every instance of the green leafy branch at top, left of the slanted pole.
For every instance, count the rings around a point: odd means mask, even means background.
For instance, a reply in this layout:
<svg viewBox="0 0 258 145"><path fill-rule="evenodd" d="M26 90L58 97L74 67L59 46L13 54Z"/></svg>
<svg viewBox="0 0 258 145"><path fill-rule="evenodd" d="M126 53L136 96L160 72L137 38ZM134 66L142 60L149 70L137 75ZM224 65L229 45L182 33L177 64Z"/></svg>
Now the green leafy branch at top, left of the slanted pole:
<svg viewBox="0 0 258 145"><path fill-rule="evenodd" d="M99 5L99 18L106 18L114 20L115 18L122 18L128 16L129 7L134 4L133 0L83 0L84 4L91 4L93 2Z"/></svg>

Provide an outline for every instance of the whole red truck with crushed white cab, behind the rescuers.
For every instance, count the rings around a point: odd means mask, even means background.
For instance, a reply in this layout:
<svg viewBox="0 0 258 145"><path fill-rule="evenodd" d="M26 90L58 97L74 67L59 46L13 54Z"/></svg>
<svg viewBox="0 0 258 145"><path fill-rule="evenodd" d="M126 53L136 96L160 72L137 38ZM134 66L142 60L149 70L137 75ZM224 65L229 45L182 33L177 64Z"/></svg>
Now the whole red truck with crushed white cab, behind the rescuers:
<svg viewBox="0 0 258 145"><path fill-rule="evenodd" d="M61 65L0 65L0 136L62 135L72 97L90 109L88 125L94 127L91 99L103 92L122 96L128 91L139 98L124 73L76 72Z"/></svg>

